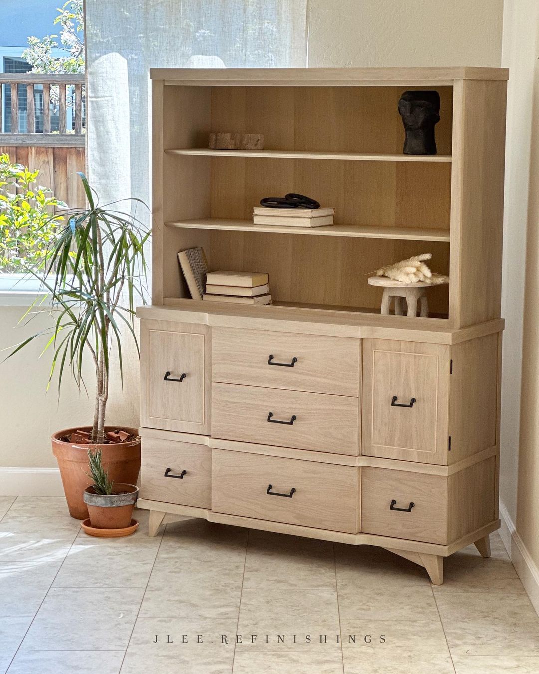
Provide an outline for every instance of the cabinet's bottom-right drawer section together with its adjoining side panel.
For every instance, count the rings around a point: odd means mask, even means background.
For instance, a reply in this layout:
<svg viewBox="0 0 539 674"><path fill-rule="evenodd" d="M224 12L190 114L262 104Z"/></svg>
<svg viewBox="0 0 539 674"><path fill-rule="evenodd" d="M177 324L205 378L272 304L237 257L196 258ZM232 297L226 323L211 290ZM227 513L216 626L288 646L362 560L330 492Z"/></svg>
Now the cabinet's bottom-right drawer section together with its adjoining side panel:
<svg viewBox="0 0 539 674"><path fill-rule="evenodd" d="M449 477L365 466L361 530L441 545L457 541L495 519L495 465L491 456Z"/></svg>

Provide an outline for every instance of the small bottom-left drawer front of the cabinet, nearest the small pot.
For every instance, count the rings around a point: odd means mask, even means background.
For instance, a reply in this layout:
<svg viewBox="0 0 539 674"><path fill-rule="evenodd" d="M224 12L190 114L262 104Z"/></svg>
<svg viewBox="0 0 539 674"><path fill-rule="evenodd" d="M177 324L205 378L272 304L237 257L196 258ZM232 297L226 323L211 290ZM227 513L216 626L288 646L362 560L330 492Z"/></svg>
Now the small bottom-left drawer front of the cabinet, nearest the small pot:
<svg viewBox="0 0 539 674"><path fill-rule="evenodd" d="M211 452L204 445L144 438L141 449L141 498L210 508ZM182 474L183 477L179 477Z"/></svg>

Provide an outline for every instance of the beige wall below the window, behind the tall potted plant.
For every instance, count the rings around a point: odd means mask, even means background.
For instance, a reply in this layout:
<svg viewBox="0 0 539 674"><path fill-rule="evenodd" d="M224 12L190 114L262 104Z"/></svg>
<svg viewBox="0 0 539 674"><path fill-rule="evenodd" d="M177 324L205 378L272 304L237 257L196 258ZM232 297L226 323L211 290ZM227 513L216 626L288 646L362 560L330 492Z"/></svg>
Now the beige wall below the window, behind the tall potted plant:
<svg viewBox="0 0 539 674"><path fill-rule="evenodd" d="M50 316L38 316L28 326L18 326L25 307L0 306L0 350L19 344L30 335L51 326ZM55 385L45 394L51 369L51 354L40 358L46 340L36 340L9 361L0 365L0 467L53 467L51 434L73 425L91 425L93 417L94 373L86 363L86 386L90 398L79 393L69 373L60 400ZM0 354L2 359L9 353ZM90 359L89 359L90 361ZM122 392L119 375L110 381L108 423L138 425L138 358L131 341L124 353L125 382Z"/></svg>

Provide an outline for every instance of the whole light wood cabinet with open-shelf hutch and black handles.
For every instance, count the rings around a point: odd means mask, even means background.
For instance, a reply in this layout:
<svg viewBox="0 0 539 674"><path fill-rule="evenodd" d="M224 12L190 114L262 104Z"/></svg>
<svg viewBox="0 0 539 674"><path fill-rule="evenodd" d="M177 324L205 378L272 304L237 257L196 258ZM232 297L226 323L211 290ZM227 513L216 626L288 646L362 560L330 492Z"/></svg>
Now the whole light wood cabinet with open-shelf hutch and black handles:
<svg viewBox="0 0 539 674"><path fill-rule="evenodd" d="M499 527L503 69L152 70L152 305L140 307L150 535L166 514L379 545L423 565ZM436 90L438 154L398 100ZM263 150L209 150L212 131ZM261 197L336 208L253 224ZM196 301L177 253L268 272L274 304ZM379 266L450 277L429 317L381 315ZM168 373L168 375L167 375ZM361 554L358 548L357 554Z"/></svg>

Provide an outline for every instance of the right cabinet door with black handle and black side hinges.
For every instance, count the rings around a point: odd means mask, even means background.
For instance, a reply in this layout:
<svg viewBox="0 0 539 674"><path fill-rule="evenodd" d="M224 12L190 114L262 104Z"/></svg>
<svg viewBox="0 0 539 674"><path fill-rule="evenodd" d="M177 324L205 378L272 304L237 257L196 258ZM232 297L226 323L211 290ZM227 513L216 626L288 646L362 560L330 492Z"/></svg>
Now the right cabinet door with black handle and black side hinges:
<svg viewBox="0 0 539 674"><path fill-rule="evenodd" d="M362 454L447 464L449 346L364 340Z"/></svg>

